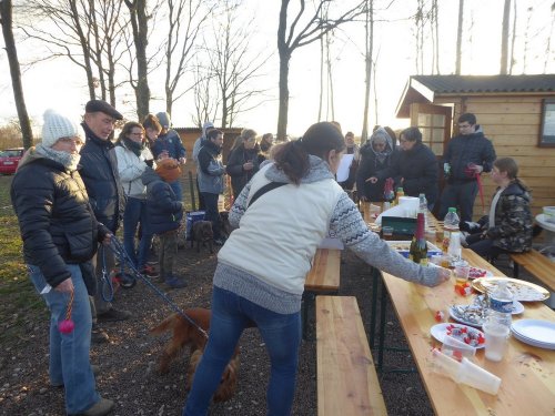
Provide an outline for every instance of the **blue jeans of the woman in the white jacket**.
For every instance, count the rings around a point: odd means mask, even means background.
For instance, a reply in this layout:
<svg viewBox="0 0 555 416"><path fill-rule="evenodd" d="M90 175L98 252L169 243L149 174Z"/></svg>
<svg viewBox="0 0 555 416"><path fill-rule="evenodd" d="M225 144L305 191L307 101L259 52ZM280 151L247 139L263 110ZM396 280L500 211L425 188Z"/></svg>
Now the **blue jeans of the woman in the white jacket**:
<svg viewBox="0 0 555 416"><path fill-rule="evenodd" d="M139 222L142 226L142 234L139 242L139 250L137 251L135 234ZM149 231L147 200L130 196L128 197L123 213L123 247L133 262L133 265L139 270L147 263L151 242L152 234Z"/></svg>

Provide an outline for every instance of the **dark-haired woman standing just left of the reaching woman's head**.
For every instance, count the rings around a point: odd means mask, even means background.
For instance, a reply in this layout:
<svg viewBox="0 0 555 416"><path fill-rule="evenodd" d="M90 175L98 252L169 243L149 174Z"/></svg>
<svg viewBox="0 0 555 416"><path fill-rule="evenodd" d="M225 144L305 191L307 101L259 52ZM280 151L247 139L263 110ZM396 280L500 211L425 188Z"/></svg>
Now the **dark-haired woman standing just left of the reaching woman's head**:
<svg viewBox="0 0 555 416"><path fill-rule="evenodd" d="M235 141L228 159L225 172L231 176L233 199L236 200L244 185L259 171L260 148L256 144L256 132L245 129Z"/></svg>

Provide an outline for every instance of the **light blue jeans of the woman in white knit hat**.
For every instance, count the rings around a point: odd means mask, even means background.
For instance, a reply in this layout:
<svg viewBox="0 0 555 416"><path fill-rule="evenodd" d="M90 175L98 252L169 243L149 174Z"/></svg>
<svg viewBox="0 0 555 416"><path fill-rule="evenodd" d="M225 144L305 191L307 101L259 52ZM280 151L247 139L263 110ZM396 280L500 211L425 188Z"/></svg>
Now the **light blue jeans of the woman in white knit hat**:
<svg viewBox="0 0 555 416"><path fill-rule="evenodd" d="M47 281L38 266L28 265L31 281L40 294ZM100 400L94 375L89 362L91 347L91 307L81 270L77 264L68 264L73 282L73 307L71 319L75 324L73 332L62 334L58 323L65 319L70 295L50 290L43 294L50 310L50 383L65 387L65 410L69 415L79 414Z"/></svg>

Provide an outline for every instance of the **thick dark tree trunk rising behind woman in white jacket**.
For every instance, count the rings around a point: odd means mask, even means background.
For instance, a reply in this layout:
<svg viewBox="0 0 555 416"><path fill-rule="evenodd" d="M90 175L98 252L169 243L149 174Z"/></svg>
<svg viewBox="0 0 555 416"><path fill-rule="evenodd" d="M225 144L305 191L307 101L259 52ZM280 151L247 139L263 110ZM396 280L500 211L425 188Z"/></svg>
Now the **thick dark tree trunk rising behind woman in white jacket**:
<svg viewBox="0 0 555 416"><path fill-rule="evenodd" d="M147 0L125 0L133 29L133 41L137 53L137 82L131 82L137 99L137 116L143 120L149 114L150 87L149 61L147 47L149 44L149 19Z"/></svg>

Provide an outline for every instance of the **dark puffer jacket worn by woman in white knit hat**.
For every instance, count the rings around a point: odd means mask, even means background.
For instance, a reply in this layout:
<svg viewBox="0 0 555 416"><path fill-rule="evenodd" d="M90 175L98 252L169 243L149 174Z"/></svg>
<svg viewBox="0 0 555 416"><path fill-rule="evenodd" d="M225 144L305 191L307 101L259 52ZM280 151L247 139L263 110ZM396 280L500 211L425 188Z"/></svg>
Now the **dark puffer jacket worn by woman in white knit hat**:
<svg viewBox="0 0 555 416"><path fill-rule="evenodd" d="M108 233L94 217L79 172L32 150L21 161L10 194L26 263L38 266L52 287L71 277L67 263L91 260Z"/></svg>

